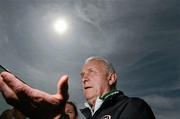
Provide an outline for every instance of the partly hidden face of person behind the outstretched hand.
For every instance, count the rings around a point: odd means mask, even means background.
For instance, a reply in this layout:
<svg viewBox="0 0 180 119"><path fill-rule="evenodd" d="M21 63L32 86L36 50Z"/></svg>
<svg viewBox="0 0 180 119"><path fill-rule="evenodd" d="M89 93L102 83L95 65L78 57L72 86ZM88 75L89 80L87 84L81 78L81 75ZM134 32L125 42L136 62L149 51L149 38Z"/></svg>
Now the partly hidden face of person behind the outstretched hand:
<svg viewBox="0 0 180 119"><path fill-rule="evenodd" d="M69 119L76 119L75 110L72 105L66 103L65 113L69 116Z"/></svg>

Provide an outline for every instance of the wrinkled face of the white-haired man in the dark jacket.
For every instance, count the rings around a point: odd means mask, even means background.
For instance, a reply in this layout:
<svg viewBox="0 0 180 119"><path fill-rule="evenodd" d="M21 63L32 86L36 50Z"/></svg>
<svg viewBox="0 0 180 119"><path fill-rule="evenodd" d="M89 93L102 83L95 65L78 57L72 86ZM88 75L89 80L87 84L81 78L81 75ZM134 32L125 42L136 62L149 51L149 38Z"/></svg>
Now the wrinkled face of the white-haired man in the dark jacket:
<svg viewBox="0 0 180 119"><path fill-rule="evenodd" d="M84 64L81 71L83 94L86 100L94 105L98 96L110 90L109 73L100 60L91 60Z"/></svg>

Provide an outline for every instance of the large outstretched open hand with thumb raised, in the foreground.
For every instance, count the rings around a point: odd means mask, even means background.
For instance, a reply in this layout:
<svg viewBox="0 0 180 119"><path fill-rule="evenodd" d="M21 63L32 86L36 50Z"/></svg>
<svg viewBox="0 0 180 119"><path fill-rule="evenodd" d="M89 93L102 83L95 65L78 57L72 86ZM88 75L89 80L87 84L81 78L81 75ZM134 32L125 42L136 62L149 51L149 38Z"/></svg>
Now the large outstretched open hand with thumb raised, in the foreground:
<svg viewBox="0 0 180 119"><path fill-rule="evenodd" d="M54 95L34 89L9 72L0 74L0 91L6 102L24 115L33 119L53 119L64 114L68 95L68 76L64 75L57 84Z"/></svg>

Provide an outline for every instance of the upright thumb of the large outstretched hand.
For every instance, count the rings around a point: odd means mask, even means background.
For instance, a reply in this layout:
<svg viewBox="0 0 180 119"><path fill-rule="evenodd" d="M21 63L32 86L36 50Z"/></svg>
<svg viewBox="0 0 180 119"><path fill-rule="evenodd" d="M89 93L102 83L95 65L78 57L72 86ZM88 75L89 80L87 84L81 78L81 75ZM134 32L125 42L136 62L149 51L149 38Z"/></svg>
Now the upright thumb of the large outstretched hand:
<svg viewBox="0 0 180 119"><path fill-rule="evenodd" d="M57 94L61 95L62 98L65 100L67 100L69 98L68 79L69 79L69 77L67 75L62 76L57 85Z"/></svg>

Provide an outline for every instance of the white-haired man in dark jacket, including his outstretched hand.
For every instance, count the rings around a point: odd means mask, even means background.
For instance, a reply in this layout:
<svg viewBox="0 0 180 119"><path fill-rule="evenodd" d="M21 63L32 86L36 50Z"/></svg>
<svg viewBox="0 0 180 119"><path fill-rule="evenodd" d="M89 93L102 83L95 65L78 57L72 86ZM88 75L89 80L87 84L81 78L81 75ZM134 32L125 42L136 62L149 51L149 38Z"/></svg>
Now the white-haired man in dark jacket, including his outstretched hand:
<svg viewBox="0 0 180 119"><path fill-rule="evenodd" d="M117 74L104 58L88 58L81 70L83 94L87 100L81 112L87 119L154 119L148 104L129 98L116 90ZM30 118L52 119L64 115L68 98L67 76L58 83L58 91L50 95L22 83L12 74L1 73L0 89L6 101ZM36 114L36 115L34 115Z"/></svg>

